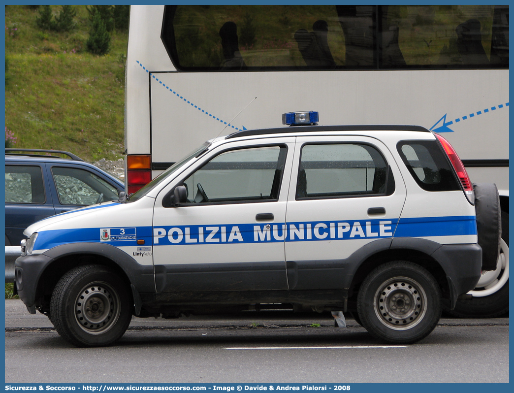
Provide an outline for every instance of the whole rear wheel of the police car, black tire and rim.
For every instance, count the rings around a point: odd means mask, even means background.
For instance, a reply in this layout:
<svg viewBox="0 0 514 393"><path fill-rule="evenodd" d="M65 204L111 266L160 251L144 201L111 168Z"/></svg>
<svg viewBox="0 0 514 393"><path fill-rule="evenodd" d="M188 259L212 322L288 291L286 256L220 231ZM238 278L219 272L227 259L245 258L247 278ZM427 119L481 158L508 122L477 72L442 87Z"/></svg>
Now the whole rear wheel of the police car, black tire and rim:
<svg viewBox="0 0 514 393"><path fill-rule="evenodd" d="M378 266L357 295L361 324L382 341L410 344L425 338L439 321L439 285L424 267L409 261Z"/></svg>

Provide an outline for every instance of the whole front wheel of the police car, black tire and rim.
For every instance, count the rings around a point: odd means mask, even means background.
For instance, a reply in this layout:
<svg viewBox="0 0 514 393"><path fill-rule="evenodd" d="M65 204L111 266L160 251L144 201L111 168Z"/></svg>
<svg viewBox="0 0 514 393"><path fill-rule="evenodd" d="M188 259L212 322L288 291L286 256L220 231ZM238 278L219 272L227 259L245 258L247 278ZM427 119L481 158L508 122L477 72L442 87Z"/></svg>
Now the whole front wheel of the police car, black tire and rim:
<svg viewBox="0 0 514 393"><path fill-rule="evenodd" d="M57 332L78 347L113 344L132 318L126 284L102 265L77 266L57 283L50 301Z"/></svg>

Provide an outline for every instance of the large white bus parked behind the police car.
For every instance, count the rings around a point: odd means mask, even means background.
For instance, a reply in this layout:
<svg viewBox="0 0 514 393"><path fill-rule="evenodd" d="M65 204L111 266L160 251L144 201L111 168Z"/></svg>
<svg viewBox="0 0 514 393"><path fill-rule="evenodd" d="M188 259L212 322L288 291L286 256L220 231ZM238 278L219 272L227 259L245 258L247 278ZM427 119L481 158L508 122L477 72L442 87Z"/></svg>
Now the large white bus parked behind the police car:
<svg viewBox="0 0 514 393"><path fill-rule="evenodd" d="M445 133L474 183L500 192L503 239L463 316L508 310L509 7L132 6L127 192L217 134L320 124ZM255 98L256 97L256 98Z"/></svg>

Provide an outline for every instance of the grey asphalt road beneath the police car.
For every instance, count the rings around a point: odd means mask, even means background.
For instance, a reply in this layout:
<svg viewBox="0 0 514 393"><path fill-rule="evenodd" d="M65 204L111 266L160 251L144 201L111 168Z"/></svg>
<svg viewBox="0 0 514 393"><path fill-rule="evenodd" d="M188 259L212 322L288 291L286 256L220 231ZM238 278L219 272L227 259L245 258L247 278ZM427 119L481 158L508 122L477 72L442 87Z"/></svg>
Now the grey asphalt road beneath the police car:
<svg viewBox="0 0 514 393"><path fill-rule="evenodd" d="M327 314L134 318L116 345L75 348L20 300L5 305L6 383L509 382L508 318L443 318L408 346Z"/></svg>

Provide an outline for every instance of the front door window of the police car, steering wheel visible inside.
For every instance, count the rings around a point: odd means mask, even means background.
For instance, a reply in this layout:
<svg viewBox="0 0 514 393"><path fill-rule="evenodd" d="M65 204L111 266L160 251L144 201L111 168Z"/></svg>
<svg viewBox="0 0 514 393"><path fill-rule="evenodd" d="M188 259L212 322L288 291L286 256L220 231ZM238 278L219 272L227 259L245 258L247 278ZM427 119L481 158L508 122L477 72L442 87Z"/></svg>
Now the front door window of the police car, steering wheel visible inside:
<svg viewBox="0 0 514 393"><path fill-rule="evenodd" d="M219 154L183 181L188 203L277 200L285 155L280 146Z"/></svg>

